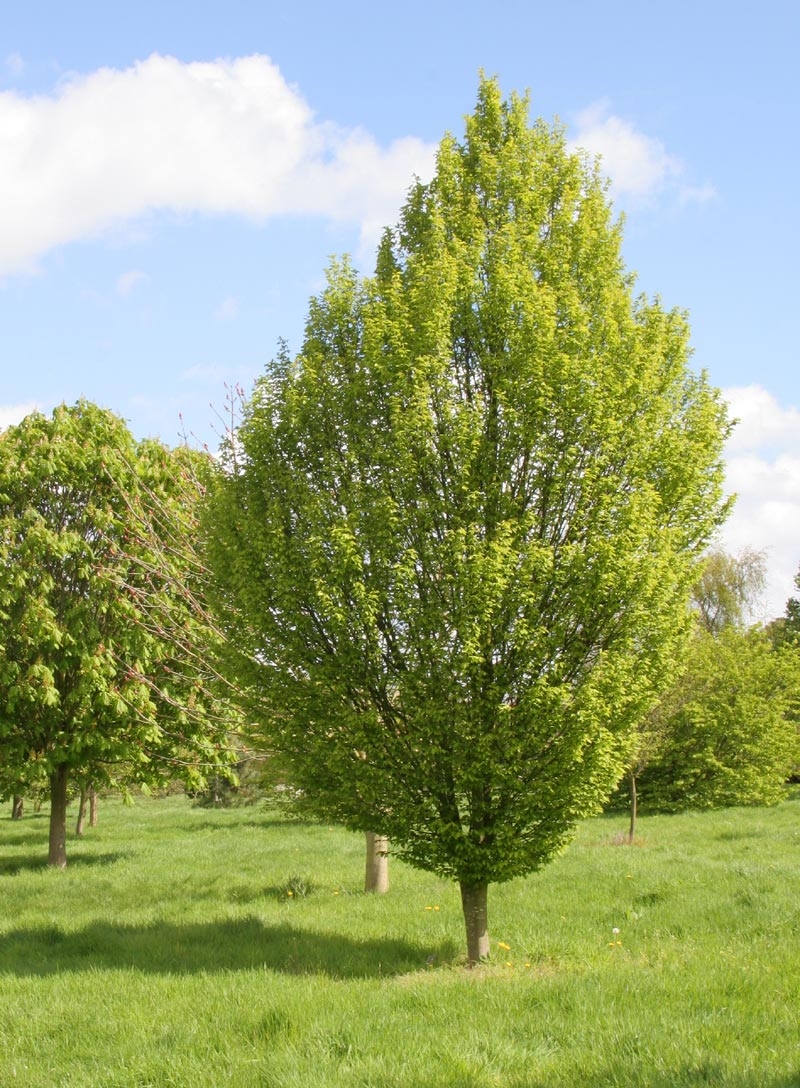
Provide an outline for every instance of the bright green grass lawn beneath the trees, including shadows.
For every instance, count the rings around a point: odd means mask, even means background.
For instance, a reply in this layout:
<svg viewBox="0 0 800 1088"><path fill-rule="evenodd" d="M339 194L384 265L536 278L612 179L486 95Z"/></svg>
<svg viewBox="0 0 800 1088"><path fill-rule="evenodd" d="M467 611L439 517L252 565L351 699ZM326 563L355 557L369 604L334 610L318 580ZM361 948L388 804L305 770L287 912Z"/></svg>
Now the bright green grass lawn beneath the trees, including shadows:
<svg viewBox="0 0 800 1088"><path fill-rule="evenodd" d="M493 888L468 972L457 889L364 895L340 829L107 801L60 873L5 815L0 1086L800 1088L800 795L624 823Z"/></svg>

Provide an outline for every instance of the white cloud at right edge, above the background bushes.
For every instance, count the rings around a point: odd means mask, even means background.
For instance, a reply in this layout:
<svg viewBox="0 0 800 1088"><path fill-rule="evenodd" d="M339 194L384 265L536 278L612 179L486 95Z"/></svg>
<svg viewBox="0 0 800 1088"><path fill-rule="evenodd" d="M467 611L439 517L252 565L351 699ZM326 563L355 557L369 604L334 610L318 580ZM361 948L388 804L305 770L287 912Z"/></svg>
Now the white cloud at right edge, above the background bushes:
<svg viewBox="0 0 800 1088"><path fill-rule="evenodd" d="M800 411L759 385L724 391L740 420L726 450L727 486L738 496L722 532L730 552L763 551L767 588L759 619L780 616L800 565Z"/></svg>

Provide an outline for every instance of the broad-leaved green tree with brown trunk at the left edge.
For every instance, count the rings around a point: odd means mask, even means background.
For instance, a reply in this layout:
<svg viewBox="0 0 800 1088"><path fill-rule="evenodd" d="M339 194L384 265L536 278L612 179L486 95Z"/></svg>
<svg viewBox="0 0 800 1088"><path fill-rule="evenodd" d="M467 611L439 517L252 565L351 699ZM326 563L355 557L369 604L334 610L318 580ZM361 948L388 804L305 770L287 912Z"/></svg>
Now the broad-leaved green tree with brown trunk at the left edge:
<svg viewBox="0 0 800 1088"><path fill-rule="evenodd" d="M51 865L66 864L71 775L147 781L225 759L169 561L185 456L86 401L0 435L0 755L3 780L49 780Z"/></svg>

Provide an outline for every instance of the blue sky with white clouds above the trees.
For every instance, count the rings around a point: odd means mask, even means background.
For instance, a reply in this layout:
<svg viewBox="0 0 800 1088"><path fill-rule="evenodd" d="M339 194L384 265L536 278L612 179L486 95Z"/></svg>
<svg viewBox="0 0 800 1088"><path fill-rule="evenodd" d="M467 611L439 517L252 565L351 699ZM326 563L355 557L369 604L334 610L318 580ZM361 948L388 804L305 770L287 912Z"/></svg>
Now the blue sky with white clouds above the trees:
<svg viewBox="0 0 800 1088"><path fill-rule="evenodd" d="M719 545L800 565L800 4L27 0L0 20L0 428L86 397L214 448L297 350L331 257L372 270L479 74L602 157L638 289L739 420Z"/></svg>

